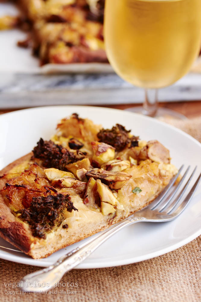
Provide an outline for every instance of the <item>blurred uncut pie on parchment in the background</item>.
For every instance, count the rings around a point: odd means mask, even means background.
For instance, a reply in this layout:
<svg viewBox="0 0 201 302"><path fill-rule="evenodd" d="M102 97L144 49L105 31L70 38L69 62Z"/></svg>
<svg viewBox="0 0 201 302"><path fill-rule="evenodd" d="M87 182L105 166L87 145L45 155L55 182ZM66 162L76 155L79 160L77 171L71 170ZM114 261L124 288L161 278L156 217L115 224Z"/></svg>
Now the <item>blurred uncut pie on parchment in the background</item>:
<svg viewBox="0 0 201 302"><path fill-rule="evenodd" d="M0 1L1 2L1 1ZM19 18L0 19L0 29L28 30L21 47L46 63L107 63L103 43L104 0L16 0Z"/></svg>

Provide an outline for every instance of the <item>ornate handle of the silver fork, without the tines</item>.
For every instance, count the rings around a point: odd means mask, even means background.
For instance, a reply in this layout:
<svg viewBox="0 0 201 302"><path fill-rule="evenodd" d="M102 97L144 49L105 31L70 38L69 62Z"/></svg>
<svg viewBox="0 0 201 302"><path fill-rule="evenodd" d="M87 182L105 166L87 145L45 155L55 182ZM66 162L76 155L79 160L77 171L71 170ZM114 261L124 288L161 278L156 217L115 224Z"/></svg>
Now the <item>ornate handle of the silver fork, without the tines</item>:
<svg viewBox="0 0 201 302"><path fill-rule="evenodd" d="M109 229L97 234L95 238L88 240L86 243L78 246L68 254L61 256L57 262L48 268L36 271L26 275L21 279L21 288L24 291L42 292L57 286L63 275L86 259L91 253L97 249L105 240L117 233L124 226L138 221L142 221L142 217L126 218L119 223L114 224Z"/></svg>

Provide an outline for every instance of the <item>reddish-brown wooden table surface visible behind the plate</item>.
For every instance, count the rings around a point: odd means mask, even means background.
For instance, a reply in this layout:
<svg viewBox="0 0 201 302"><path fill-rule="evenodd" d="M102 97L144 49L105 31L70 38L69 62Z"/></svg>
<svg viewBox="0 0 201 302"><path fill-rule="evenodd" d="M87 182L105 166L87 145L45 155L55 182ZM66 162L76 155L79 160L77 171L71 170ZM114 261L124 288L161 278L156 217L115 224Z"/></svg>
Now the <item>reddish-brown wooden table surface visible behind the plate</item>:
<svg viewBox="0 0 201 302"><path fill-rule="evenodd" d="M135 107L139 106L139 104L121 104L121 105L104 105L103 107L108 108L116 108L116 109L126 109L129 107ZM201 116L201 101L185 101L185 102L165 102L165 103L159 103L159 107L162 108L168 108L172 109L174 111L177 111L181 114L184 114L188 118L195 118ZM0 114L15 111L18 109L12 108L12 109L3 109L0 110Z"/></svg>

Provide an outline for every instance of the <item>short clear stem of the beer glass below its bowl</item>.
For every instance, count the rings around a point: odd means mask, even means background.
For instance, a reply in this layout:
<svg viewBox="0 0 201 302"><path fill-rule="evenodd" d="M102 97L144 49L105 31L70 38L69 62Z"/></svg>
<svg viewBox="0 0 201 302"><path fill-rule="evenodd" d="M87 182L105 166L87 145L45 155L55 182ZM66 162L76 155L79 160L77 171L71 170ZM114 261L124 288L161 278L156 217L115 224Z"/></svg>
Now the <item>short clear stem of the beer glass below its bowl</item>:
<svg viewBox="0 0 201 302"><path fill-rule="evenodd" d="M143 114L154 117L158 109L157 89L145 89Z"/></svg>

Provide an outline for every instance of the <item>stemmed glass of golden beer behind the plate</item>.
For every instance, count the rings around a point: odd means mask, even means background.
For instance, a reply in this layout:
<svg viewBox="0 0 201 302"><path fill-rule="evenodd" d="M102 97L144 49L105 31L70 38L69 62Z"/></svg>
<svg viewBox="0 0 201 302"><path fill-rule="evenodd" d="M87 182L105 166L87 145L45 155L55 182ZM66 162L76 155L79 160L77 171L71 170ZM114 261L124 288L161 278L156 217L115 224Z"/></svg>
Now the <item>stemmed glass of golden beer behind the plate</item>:
<svg viewBox="0 0 201 302"><path fill-rule="evenodd" d="M145 88L141 112L155 116L157 89L184 76L199 53L201 0L106 0L104 38L115 72Z"/></svg>

